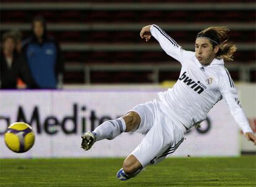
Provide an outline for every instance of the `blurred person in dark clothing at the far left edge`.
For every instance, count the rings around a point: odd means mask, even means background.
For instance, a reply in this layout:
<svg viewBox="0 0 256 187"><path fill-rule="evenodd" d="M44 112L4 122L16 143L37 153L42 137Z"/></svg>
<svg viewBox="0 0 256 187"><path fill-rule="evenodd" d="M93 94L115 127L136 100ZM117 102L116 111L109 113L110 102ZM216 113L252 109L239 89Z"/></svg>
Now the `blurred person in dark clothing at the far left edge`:
<svg viewBox="0 0 256 187"><path fill-rule="evenodd" d="M13 33L2 36L0 87L1 89L17 89L17 80L22 79L27 88L35 88L30 70L25 60L17 54L16 38Z"/></svg>

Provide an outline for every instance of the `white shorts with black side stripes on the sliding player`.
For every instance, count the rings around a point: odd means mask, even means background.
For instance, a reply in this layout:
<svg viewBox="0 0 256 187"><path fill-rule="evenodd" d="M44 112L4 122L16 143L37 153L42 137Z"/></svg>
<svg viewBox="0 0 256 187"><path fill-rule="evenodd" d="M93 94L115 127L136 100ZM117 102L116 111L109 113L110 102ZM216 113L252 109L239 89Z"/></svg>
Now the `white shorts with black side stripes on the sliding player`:
<svg viewBox="0 0 256 187"><path fill-rule="evenodd" d="M141 119L135 132L146 134L137 148L130 153L139 160L142 167L163 161L184 140L184 131L161 111L160 105L160 101L153 100L130 110L138 113Z"/></svg>

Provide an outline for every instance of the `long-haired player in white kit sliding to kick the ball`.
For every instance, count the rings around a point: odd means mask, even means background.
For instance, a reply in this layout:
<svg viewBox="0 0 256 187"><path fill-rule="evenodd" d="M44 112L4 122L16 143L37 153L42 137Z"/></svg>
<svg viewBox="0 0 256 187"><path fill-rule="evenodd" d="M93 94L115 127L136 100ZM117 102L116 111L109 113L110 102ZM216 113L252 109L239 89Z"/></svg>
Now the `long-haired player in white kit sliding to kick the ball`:
<svg viewBox="0 0 256 187"><path fill-rule="evenodd" d="M93 132L82 135L82 148L88 150L95 141L111 140L122 132L146 134L142 142L124 160L117 178L128 180L143 167L156 164L177 149L184 133L206 119L207 113L222 98L245 137L254 142L249 122L239 105L237 89L224 60L233 60L236 46L228 41L228 28L210 27L197 34L195 52L182 49L157 25L144 26L140 37L149 41L153 36L169 56L182 65L176 84L159 99L132 108L116 120L105 121Z"/></svg>

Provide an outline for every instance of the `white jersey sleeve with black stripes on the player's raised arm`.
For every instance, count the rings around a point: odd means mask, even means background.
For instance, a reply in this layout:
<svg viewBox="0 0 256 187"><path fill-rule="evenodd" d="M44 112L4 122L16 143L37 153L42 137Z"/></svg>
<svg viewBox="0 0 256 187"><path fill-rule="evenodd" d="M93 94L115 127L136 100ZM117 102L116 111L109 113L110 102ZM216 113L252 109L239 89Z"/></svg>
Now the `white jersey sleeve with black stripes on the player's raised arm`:
<svg viewBox="0 0 256 187"><path fill-rule="evenodd" d="M182 49L182 47L179 46L173 38L168 36L168 34L166 34L157 25L150 26L150 33L159 42L161 48L166 52L166 54L173 57L180 63L183 62L184 52L186 52L186 50Z"/></svg>

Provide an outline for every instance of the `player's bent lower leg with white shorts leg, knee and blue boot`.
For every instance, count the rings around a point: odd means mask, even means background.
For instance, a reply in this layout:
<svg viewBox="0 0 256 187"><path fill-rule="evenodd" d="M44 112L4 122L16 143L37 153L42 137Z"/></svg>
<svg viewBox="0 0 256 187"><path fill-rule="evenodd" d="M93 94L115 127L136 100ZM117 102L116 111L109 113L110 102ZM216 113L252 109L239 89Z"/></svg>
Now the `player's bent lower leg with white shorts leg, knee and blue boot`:
<svg viewBox="0 0 256 187"><path fill-rule="evenodd" d="M144 167L157 164L174 153L184 140L184 132L164 114L157 112L153 127L117 172L119 180L135 177Z"/></svg>

